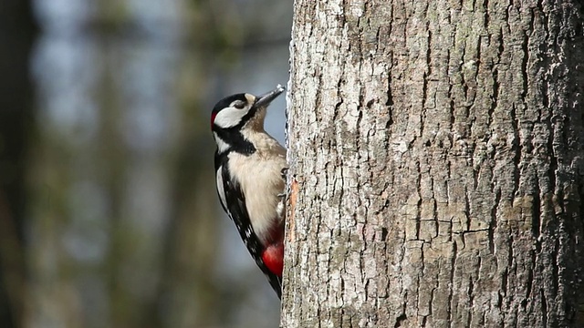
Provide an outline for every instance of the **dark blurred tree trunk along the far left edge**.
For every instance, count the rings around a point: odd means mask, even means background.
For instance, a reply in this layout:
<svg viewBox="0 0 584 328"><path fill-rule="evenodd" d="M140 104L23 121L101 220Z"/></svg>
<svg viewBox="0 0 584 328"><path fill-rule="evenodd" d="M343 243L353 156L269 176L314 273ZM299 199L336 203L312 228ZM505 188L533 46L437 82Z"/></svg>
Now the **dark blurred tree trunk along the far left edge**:
<svg viewBox="0 0 584 328"><path fill-rule="evenodd" d="M31 131L28 63L36 25L29 1L0 0L0 327L20 326L25 297L26 143Z"/></svg>

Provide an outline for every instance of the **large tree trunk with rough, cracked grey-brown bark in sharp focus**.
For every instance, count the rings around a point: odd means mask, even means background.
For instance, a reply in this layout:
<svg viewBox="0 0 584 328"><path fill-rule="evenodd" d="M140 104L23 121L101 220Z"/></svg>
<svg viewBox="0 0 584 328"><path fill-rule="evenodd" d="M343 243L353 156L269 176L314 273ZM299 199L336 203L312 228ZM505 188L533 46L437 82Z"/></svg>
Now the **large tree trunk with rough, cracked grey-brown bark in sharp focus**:
<svg viewBox="0 0 584 328"><path fill-rule="evenodd" d="M283 327L584 326L583 22L296 1Z"/></svg>

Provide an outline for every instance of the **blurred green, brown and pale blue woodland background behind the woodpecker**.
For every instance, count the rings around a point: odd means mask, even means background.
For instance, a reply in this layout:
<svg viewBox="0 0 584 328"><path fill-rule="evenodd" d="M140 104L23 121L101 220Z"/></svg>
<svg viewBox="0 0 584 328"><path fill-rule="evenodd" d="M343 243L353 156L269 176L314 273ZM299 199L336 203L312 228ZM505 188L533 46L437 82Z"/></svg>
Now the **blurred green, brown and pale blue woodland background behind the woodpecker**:
<svg viewBox="0 0 584 328"><path fill-rule="evenodd" d="M291 22L285 1L0 0L0 327L277 326L209 117L286 85Z"/></svg>

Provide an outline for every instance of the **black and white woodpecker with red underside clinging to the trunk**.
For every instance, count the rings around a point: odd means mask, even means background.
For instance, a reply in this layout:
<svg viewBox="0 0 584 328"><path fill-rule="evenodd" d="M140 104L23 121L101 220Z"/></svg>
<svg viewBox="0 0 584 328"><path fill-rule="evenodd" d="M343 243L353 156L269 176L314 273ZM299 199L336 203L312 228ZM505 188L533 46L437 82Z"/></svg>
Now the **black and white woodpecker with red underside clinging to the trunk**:
<svg viewBox="0 0 584 328"><path fill-rule="evenodd" d="M286 149L264 130L269 104L285 88L262 96L240 93L220 100L211 114L217 194L247 251L282 295Z"/></svg>

